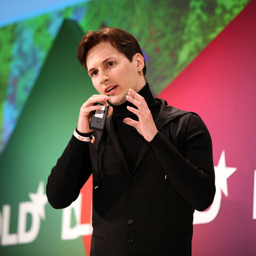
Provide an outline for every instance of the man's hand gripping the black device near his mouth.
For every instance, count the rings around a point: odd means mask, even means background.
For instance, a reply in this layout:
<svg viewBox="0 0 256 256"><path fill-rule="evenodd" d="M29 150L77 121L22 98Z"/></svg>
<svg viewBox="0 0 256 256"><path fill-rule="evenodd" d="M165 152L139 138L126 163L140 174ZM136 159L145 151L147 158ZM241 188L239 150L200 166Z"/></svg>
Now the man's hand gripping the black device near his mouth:
<svg viewBox="0 0 256 256"><path fill-rule="evenodd" d="M102 106L94 105L94 103L101 102L103 105L108 106L107 100L109 99L106 95L92 95L91 98L86 100L82 107L80 108L79 118L78 118L78 124L77 124L77 130L81 133L89 133L92 132L89 128L91 118L92 118L92 111L99 110L102 108ZM109 106L108 109L108 115L112 115L113 108Z"/></svg>

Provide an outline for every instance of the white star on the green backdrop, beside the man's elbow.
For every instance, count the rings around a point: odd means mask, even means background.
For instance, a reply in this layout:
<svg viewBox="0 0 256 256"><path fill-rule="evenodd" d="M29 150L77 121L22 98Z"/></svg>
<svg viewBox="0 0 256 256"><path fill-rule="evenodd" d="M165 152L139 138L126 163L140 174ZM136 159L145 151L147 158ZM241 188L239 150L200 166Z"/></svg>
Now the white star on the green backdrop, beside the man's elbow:
<svg viewBox="0 0 256 256"><path fill-rule="evenodd" d="M47 197L44 194L44 182L40 181L37 189L37 193L29 193L28 194L31 201L34 203L36 210L41 217L41 219L45 219L45 204L47 203Z"/></svg>

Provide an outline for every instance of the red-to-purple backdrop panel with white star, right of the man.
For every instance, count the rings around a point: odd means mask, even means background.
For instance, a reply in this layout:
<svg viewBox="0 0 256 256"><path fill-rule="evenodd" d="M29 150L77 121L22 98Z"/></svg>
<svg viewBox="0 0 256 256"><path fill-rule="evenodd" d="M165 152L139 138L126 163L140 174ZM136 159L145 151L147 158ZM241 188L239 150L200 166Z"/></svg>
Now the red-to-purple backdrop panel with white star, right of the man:
<svg viewBox="0 0 256 256"><path fill-rule="evenodd" d="M216 202L221 205L211 222L194 225L193 255L256 255L255 47L253 0L158 95L169 105L199 114L212 137L220 191ZM219 164L221 154L224 165Z"/></svg>

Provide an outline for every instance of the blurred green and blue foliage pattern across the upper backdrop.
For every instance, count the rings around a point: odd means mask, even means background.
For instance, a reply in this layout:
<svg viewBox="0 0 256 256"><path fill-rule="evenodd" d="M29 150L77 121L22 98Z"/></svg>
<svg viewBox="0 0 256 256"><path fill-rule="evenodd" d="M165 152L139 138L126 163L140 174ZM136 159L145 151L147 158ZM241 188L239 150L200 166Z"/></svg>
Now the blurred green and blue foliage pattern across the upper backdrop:
<svg viewBox="0 0 256 256"><path fill-rule="evenodd" d="M157 94L249 2L92 0L0 28L0 151L17 123L63 19L76 20L83 31L101 26L129 31L145 53L147 80Z"/></svg>

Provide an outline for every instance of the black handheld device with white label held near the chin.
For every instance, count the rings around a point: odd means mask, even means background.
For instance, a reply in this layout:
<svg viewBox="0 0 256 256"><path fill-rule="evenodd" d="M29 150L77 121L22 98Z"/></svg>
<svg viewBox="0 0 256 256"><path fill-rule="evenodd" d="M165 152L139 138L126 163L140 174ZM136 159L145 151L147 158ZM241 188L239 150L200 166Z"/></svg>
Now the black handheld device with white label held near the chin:
<svg viewBox="0 0 256 256"><path fill-rule="evenodd" d="M100 105L102 108L93 111L90 129L103 132L103 128L108 115L108 106L106 107L101 103L95 103L95 105Z"/></svg>

